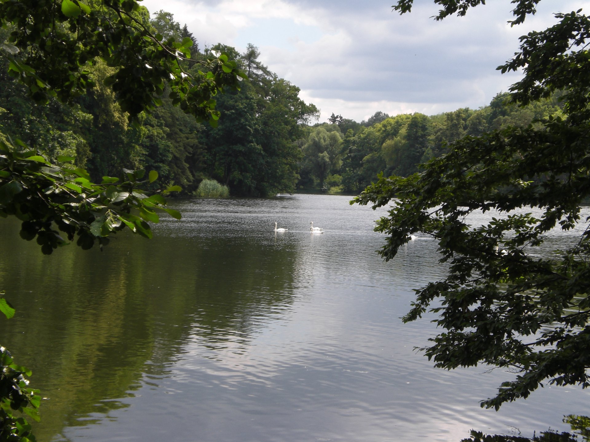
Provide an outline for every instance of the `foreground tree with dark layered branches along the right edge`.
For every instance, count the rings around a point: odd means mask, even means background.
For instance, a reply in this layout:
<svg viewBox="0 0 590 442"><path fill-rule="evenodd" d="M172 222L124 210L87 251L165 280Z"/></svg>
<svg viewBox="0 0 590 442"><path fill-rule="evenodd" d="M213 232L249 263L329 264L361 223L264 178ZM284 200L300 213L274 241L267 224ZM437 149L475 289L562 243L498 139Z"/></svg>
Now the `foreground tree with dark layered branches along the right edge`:
<svg viewBox="0 0 590 442"><path fill-rule="evenodd" d="M436 19L480 3L435 2L442 4ZM513 26L535 12L535 0L514 4ZM394 9L411 6L399 0ZM423 349L435 367L488 364L516 372L481 402L487 408L526 398L545 383L590 385L590 226L581 217L590 197L590 19L581 10L555 17L552 27L521 37L520 51L498 69L523 70L511 103L558 93L562 116L464 136L421 172L381 176L354 200L382 207L395 199L376 227L389 235L380 252L386 260L411 233L437 240L447 276L417 290L404 321L429 309L438 314L444 331ZM490 222L471 226L474 212L491 213ZM550 230L576 228L575 241L559 252L543 249Z"/></svg>

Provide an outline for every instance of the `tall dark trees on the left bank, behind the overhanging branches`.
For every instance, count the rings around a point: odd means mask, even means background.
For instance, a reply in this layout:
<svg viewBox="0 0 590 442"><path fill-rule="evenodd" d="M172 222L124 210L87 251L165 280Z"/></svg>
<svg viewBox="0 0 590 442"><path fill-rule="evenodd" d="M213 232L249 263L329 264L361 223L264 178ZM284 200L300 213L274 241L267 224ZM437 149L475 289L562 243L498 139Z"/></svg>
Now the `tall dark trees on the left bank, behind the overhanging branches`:
<svg viewBox="0 0 590 442"><path fill-rule="evenodd" d="M76 20L80 21L83 16L81 11ZM39 75L45 75L40 65L29 60L27 52L19 51L10 59L0 61L2 139L9 142L8 138L18 138L31 149L44 150L50 161L57 161L60 156L74 157L76 166L88 170L93 180L118 176L123 168L150 169L158 172L160 182L178 184L185 193L194 192L205 178L218 180L237 195L264 196L293 190L299 179L297 161L300 159L294 141L301 137L301 124L317 114L313 105L300 100L299 88L268 71L258 60L260 52L253 45L249 45L244 54L222 44L201 52L186 25L181 27L169 12L158 11L150 19L145 8L137 8L130 12L130 17L129 27L145 28L150 35L158 36L160 43L175 42L171 50L173 61L163 65L168 69L175 64L175 69L166 81L158 77L158 87L148 94L151 101L144 97L145 111L126 103L128 96L123 97L119 89L124 89L125 94L131 92L127 85L118 85L117 81L126 80L113 66L117 60L112 56L97 56L83 72L76 71L86 83L79 80L79 90L72 91L64 104L60 101L63 97L49 92L53 91L50 84L30 93L30 82L18 81L29 81L25 74L35 75L35 81ZM79 33L81 24L77 21L75 25L70 24L70 28ZM63 32L73 38L71 29ZM141 34L137 29L133 32ZM133 38L139 37L133 32L129 31L131 37L120 38L135 41ZM18 38L22 38L13 36L19 34L14 25L5 26L0 34L2 41L14 39L14 43L19 43ZM88 50L83 49L89 42L76 41L80 54L70 56L89 58L90 55L84 56ZM170 55L162 48L160 52ZM38 58L52 54L42 52ZM212 63L213 60L218 60L218 64ZM127 74L142 77L148 72L146 81L154 80L152 72L158 70L156 62L146 55L141 63L136 67L141 71ZM236 83L232 84L234 88L227 88L224 95L202 98L201 104L206 104L203 108L207 111L197 114L195 119L192 101L186 98L188 92L178 84L191 79L196 82L199 78L204 78L205 82L219 81L224 77L216 69L227 75L224 67L228 70L228 66L242 70L248 81L239 82L239 90L235 88ZM22 72L15 71L17 68ZM74 74L71 76L74 78ZM129 100L136 103L135 96ZM40 101L47 105L38 106ZM223 118L219 118L220 111L225 113ZM129 118L135 124L130 124ZM206 120L213 124L202 124Z"/></svg>

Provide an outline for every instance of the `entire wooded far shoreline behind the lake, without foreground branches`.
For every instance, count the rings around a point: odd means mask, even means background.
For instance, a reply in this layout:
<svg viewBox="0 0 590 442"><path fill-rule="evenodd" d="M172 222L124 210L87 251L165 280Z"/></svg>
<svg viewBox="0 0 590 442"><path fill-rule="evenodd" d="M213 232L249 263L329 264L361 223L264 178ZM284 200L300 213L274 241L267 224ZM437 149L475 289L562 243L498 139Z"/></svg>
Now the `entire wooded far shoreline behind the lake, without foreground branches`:
<svg viewBox="0 0 590 442"><path fill-rule="evenodd" d="M112 70L101 60L91 68L96 81L91 93L72 105L56 100L38 106L9 75L8 61L0 60L0 137L18 138L53 161L73 156L94 180L119 176L123 168L148 169L158 171L162 184L179 184L187 194L205 179L228 186L232 196L297 189L358 193L381 171L414 173L419 163L440 156L446 143L466 134L526 126L560 112L556 97L518 108L504 104L506 94L499 94L478 110L395 117L378 112L362 123L332 114L329 123L310 126L319 110L300 100L298 87L269 71L254 45L243 54L223 44L201 50L186 25L181 27L168 12L150 18L148 10L140 8L137 18L164 40L191 38L192 60L226 52L248 75L240 91L216 97L222 115L217 127L196 123L172 105L166 90L159 107L143 114L140 124L129 124L116 104L116 93L104 84ZM5 41L9 32L0 30L0 39ZM189 75L202 70L193 62L181 64Z"/></svg>

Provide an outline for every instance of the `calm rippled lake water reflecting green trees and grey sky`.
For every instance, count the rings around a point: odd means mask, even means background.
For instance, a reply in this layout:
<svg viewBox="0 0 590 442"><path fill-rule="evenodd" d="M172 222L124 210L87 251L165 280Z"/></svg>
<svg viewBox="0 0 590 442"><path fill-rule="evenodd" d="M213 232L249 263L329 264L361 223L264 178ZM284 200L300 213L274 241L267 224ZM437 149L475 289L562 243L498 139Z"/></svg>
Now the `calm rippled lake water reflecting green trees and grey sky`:
<svg viewBox="0 0 590 442"><path fill-rule="evenodd" d="M153 240L50 257L2 221L17 315L0 320L0 342L47 398L38 441L458 442L590 414L588 392L557 387L482 410L511 374L432 368L414 351L431 318L399 318L413 288L444 275L434 242L384 263L373 225L385 211L348 200L183 200Z"/></svg>

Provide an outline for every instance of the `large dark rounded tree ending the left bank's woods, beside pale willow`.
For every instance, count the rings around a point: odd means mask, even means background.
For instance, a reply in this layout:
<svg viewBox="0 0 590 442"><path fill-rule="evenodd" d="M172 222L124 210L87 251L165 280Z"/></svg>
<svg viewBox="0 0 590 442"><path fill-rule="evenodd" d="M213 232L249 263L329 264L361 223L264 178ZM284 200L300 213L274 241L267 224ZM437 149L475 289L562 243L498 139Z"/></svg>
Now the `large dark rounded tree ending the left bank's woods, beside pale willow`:
<svg viewBox="0 0 590 442"><path fill-rule="evenodd" d="M233 48L224 47L228 53ZM204 131L205 173L242 196L293 192L299 179L301 152L295 141L317 108L299 98L299 88L268 72L248 45L240 57L250 81L237 93L219 100L224 117L217 128Z"/></svg>

